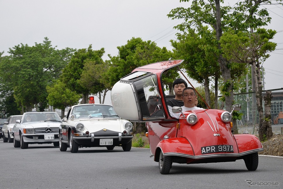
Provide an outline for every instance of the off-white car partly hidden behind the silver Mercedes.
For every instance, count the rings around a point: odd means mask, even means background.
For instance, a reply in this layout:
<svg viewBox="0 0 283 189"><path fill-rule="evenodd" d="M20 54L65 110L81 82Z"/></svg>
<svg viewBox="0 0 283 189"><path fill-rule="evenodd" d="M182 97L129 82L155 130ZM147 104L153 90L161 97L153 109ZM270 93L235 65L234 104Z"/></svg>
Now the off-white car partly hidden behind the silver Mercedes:
<svg viewBox="0 0 283 189"><path fill-rule="evenodd" d="M13 142L13 127L16 123L16 120L22 119L23 115L11 115L8 120L4 122L2 133L3 133L3 142Z"/></svg>

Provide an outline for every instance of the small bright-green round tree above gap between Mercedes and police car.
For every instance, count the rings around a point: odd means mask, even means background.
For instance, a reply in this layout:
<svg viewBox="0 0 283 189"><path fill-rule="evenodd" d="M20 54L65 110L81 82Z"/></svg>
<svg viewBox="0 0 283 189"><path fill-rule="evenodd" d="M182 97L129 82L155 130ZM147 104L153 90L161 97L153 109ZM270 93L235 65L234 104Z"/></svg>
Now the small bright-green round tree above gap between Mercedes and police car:
<svg viewBox="0 0 283 189"><path fill-rule="evenodd" d="M61 115L64 117L65 108L67 106L76 105L79 102L80 95L75 91L71 91L59 79L51 86L46 87L49 105L61 110Z"/></svg>

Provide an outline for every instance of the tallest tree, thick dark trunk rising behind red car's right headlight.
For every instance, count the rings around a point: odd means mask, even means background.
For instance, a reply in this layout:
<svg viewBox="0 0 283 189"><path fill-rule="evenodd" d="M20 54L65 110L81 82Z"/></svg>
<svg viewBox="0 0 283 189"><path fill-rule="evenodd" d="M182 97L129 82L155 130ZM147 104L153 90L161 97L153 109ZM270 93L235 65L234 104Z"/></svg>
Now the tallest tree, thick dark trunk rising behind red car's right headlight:
<svg viewBox="0 0 283 189"><path fill-rule="evenodd" d="M189 0L181 1L189 2ZM215 36L213 39L217 42L218 51L215 52L217 52L216 56L222 73L223 86L221 92L225 97L226 110L231 111L234 100L233 71L231 71L231 67L233 67L233 64L235 67L240 67L240 65L228 61L223 56L220 38L223 33L229 31L231 28L236 32L246 32L250 28L260 28L270 23L271 18L268 11L265 8L260 9L260 4L271 4L271 0L238 1L233 7L221 7L220 3L223 2L224 0L192 0L191 7L175 8L168 14L168 17L172 19L184 19L182 24L176 26L181 31L191 28L201 31L201 28L206 25L211 28L211 32ZM236 73L239 72L241 73L241 71L237 71Z"/></svg>

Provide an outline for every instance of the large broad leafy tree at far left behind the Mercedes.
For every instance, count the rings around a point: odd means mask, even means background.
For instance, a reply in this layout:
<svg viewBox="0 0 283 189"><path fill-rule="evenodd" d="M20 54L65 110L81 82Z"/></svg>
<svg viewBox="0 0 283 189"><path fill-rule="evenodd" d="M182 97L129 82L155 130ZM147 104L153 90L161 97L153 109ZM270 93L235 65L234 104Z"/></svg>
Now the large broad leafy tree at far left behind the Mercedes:
<svg viewBox="0 0 283 189"><path fill-rule="evenodd" d="M1 59L0 70L5 74L2 81L13 91L22 113L32 110L34 105L39 111L47 107L46 86L58 79L73 52L70 48L55 48L44 38L43 43L32 47L20 44L9 48L10 56Z"/></svg>

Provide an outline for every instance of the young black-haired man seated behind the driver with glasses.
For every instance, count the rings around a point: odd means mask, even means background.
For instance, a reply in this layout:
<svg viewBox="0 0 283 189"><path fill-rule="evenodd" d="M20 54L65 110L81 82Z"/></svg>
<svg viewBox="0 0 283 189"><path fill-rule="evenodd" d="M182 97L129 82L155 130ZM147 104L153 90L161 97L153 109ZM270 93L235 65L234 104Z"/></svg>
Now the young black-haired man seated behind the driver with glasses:
<svg viewBox="0 0 283 189"><path fill-rule="evenodd" d="M172 107L173 106L183 106L184 102L182 99L182 93L184 88L188 87L186 81L182 78L178 78L175 79L175 81L173 82L173 90L175 93L175 98L172 98L170 100L167 101L167 105L168 105L168 109L169 109L169 113L170 115L173 115L172 113Z"/></svg>

